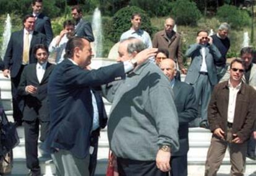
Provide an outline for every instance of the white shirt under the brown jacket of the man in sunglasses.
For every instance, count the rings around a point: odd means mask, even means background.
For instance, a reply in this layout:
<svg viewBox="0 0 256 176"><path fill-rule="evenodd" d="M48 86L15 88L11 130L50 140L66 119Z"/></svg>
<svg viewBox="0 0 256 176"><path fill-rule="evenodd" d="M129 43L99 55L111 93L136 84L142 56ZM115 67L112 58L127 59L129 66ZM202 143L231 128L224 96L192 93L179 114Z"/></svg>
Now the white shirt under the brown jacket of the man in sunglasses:
<svg viewBox="0 0 256 176"><path fill-rule="evenodd" d="M228 80L228 88L229 88L229 101L228 101L228 122L234 122L234 112L236 110L236 96L238 91L241 88L242 83L239 83L235 88L231 85Z"/></svg>

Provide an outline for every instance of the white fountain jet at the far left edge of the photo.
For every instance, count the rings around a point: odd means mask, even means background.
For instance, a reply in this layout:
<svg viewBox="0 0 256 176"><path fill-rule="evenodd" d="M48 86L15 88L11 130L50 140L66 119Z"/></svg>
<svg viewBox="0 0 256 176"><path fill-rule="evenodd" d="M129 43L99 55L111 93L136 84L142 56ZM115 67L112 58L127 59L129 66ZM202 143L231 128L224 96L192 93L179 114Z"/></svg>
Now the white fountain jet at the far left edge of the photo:
<svg viewBox="0 0 256 176"><path fill-rule="evenodd" d="M9 14L7 14L6 23L4 25L4 33L2 33L2 49L1 49L1 57L4 58L4 54L6 54L7 45L9 43L9 40L11 38L12 33L12 23L11 23L11 17Z"/></svg>

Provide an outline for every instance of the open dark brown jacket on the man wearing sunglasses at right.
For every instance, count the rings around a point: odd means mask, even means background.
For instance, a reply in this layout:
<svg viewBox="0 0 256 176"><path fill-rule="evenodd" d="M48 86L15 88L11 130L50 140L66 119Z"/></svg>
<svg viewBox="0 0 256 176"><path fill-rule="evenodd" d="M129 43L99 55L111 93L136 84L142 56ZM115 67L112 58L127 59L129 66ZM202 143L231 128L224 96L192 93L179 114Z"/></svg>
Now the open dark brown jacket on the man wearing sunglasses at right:
<svg viewBox="0 0 256 176"><path fill-rule="evenodd" d="M208 106L208 122L211 132L214 132L216 128L221 128L225 134L227 133L228 101L228 81L219 83L211 94ZM233 133L236 133L242 141L246 141L252 133L256 117L255 107L256 91L252 86L242 83L237 93L233 122Z"/></svg>

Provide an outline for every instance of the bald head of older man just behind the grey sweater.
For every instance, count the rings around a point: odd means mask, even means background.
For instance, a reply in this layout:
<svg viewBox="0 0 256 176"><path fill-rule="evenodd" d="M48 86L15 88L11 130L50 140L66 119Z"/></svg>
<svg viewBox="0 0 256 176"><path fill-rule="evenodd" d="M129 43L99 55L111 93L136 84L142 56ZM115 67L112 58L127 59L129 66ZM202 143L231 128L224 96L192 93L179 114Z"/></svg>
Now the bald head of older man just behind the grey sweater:
<svg viewBox="0 0 256 176"><path fill-rule="evenodd" d="M160 63L160 69L163 71L169 80L173 80L176 75L176 64L173 59L164 59Z"/></svg>

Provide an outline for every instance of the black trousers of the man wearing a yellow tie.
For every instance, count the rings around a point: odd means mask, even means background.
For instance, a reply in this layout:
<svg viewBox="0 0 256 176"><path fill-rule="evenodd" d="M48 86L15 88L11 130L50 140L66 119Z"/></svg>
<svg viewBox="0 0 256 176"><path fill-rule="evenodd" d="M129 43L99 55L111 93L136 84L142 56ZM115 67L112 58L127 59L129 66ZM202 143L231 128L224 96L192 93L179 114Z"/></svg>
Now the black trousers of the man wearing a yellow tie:
<svg viewBox="0 0 256 176"><path fill-rule="evenodd" d="M17 123L20 123L20 125L22 121L22 111L24 107L24 101L22 100L22 97L18 94L18 86L20 83L20 77L24 67L25 67L24 65L21 65L19 73L16 75L16 77L11 78L12 110L13 110L12 116L14 118L14 121Z"/></svg>

